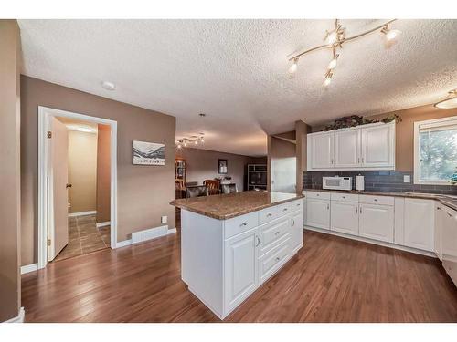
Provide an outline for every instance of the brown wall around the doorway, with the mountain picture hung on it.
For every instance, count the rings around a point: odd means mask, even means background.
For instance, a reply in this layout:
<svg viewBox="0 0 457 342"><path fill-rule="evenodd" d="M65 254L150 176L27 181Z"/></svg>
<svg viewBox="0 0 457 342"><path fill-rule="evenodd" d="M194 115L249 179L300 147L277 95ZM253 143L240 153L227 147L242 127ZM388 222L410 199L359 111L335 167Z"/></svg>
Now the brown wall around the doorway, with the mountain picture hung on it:
<svg viewBox="0 0 457 342"><path fill-rule="evenodd" d="M175 117L65 88L21 78L22 264L37 262L37 109L46 106L117 121L118 241L161 225L175 227ZM165 166L133 165L132 141L165 144Z"/></svg>

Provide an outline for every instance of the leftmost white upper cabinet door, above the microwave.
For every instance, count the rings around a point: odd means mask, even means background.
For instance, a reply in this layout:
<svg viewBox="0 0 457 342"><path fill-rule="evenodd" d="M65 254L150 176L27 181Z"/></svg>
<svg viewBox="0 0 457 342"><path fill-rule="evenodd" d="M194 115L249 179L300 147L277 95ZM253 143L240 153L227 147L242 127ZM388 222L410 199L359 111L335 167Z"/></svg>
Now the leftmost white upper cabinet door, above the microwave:
<svg viewBox="0 0 457 342"><path fill-rule="evenodd" d="M334 133L308 136L308 169L328 169L334 164Z"/></svg>

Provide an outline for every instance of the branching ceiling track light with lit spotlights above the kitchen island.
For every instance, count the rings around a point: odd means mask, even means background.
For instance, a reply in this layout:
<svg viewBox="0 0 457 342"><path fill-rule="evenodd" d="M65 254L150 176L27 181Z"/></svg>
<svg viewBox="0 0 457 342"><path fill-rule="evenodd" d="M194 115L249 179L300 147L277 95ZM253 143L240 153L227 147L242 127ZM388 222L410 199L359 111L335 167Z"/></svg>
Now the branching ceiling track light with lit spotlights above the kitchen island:
<svg viewBox="0 0 457 342"><path fill-rule="evenodd" d="M293 62L291 67L289 67L289 73L294 74L297 72L298 68L298 61L304 55L312 53L317 50L322 49L332 49L333 52L333 59L329 62L327 67L327 72L325 73L325 80L324 80L324 87L328 87L332 81L332 77L334 75L335 67L338 63L339 54L336 53L336 48L342 48L345 43L350 41L356 40L362 36L370 35L374 32L380 31L386 37L386 42L392 43L395 39L401 34L401 31L396 29L389 28L389 25L393 23L396 19L389 20L388 22L384 23L381 26L374 27L368 31L362 32L356 36L345 36L345 27L341 26L338 22L338 19L335 19L335 26L334 29L331 31L325 31L324 36L324 45L310 48L306 51L303 51L297 55L292 56L289 58L290 62Z"/></svg>

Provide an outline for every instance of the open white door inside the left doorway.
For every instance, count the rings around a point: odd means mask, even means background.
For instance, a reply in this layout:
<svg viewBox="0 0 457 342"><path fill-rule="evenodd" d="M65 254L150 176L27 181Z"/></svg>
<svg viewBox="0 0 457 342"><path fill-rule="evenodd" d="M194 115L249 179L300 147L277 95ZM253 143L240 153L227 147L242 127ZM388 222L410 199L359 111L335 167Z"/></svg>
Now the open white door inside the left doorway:
<svg viewBox="0 0 457 342"><path fill-rule="evenodd" d="M48 261L69 244L69 135L67 127L54 117L50 130Z"/></svg>

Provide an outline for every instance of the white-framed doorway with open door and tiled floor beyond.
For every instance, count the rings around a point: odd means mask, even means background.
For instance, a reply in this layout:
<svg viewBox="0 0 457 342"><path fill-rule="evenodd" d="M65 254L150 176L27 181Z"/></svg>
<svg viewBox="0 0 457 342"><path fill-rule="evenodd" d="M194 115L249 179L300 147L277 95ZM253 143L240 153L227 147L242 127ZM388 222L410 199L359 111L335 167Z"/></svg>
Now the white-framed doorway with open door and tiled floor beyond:
<svg viewBox="0 0 457 342"><path fill-rule="evenodd" d="M116 121L38 108L38 268L116 248Z"/></svg>

